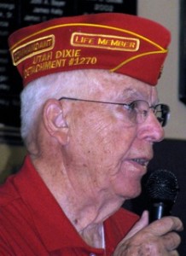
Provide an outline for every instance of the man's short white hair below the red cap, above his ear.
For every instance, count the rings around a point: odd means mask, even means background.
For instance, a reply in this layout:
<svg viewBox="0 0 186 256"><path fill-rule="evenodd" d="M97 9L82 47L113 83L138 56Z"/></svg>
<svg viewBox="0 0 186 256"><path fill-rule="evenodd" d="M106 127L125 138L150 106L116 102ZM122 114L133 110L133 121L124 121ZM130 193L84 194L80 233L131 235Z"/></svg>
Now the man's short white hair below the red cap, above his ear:
<svg viewBox="0 0 186 256"><path fill-rule="evenodd" d="M94 79L89 76L90 73L94 73ZM96 78L104 77L105 75L108 75L108 72L103 70L94 70L93 72L92 70L68 71L49 74L27 84L20 95L20 132L23 141L26 143L29 134L34 131L34 124L36 124L44 102L49 98L59 99L61 96L90 95L96 90L97 86L100 86Z"/></svg>

